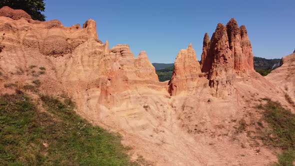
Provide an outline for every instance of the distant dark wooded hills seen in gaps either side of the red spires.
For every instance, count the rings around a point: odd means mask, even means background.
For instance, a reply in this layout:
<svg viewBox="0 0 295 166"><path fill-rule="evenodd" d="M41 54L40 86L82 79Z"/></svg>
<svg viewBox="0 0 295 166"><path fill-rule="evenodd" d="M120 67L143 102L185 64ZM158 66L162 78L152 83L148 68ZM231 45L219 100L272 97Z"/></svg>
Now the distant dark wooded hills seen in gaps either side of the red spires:
<svg viewBox="0 0 295 166"><path fill-rule="evenodd" d="M271 70L279 66L280 59L266 59L254 56L254 69L262 76L267 75ZM170 80L173 72L173 63L152 63L159 81Z"/></svg>

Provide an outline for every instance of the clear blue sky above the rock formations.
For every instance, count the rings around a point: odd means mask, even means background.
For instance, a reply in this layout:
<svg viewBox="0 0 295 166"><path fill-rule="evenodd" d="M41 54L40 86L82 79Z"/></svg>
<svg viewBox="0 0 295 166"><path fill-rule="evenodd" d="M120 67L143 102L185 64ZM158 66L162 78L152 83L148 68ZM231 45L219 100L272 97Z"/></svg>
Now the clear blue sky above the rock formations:
<svg viewBox="0 0 295 166"><path fill-rule="evenodd" d="M246 25L254 56L280 58L295 48L295 0L45 0L46 20L65 26L96 21L110 47L128 44L135 56L172 63L191 42L200 59L205 32L234 17Z"/></svg>

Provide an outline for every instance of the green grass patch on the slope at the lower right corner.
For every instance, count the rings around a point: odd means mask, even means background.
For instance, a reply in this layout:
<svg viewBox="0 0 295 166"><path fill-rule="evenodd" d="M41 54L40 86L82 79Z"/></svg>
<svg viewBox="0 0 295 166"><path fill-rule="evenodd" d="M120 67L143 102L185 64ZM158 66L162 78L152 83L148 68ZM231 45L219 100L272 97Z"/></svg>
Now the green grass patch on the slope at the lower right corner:
<svg viewBox="0 0 295 166"><path fill-rule="evenodd" d="M266 145L279 147L283 152L278 155L274 165L293 165L295 160L295 114L283 108L280 103L267 99L263 106L263 120L270 131L263 136Z"/></svg>

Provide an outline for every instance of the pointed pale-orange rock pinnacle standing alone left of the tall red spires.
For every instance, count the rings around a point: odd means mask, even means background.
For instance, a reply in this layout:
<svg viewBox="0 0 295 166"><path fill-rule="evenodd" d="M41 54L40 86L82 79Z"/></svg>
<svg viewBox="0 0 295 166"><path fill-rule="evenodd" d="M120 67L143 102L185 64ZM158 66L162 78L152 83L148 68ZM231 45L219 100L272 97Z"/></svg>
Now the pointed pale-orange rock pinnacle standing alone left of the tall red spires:
<svg viewBox="0 0 295 166"><path fill-rule="evenodd" d="M195 87L200 73L200 64L191 44L189 44L186 49L181 49L176 56L172 78L169 81L170 95L176 95Z"/></svg>

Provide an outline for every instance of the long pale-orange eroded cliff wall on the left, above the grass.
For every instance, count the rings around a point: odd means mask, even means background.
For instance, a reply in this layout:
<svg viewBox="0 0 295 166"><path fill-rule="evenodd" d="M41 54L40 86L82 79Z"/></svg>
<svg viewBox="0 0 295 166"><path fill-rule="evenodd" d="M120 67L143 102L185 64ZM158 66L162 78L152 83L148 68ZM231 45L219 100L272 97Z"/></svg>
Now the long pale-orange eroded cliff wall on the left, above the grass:
<svg viewBox="0 0 295 166"><path fill-rule="evenodd" d="M12 78L9 73L17 70L30 70L30 65L42 65L48 69L46 79L52 84L60 81L77 93L95 88L99 93L97 102L109 107L120 104L116 94L136 88L136 84L158 82L145 52L135 58L128 45L109 49L108 41L103 44L98 39L92 19L82 28L79 24L65 27L58 20L32 20L22 10L3 7L0 11L7 9L9 13L0 16L0 69L7 77Z"/></svg>

